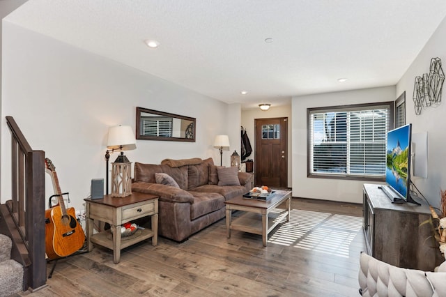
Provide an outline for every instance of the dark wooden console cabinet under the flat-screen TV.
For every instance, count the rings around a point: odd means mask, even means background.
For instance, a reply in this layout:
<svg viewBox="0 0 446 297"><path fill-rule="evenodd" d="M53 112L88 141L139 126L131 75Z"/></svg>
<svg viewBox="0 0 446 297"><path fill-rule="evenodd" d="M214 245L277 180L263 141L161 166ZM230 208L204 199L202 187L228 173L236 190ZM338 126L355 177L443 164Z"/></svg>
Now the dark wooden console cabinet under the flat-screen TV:
<svg viewBox="0 0 446 297"><path fill-rule="evenodd" d="M363 228L367 253L378 260L403 268L433 271L442 259L438 246L432 248L431 229L420 224L431 216L429 206L392 204L378 185L364 184Z"/></svg>

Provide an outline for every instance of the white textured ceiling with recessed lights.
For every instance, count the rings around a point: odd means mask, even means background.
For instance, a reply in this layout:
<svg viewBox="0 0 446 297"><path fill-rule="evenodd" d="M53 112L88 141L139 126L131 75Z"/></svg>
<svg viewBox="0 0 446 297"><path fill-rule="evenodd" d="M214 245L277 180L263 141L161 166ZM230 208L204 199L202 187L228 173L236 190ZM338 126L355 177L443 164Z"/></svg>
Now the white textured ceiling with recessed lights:
<svg viewBox="0 0 446 297"><path fill-rule="evenodd" d="M445 15L444 0L29 0L5 20L247 109L394 85Z"/></svg>

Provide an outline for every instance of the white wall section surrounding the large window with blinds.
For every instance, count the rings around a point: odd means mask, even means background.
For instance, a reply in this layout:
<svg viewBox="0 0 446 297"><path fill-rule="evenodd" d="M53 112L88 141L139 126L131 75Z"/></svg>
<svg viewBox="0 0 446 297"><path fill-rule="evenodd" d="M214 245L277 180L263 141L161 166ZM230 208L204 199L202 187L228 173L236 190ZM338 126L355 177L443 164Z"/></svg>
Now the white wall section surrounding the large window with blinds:
<svg viewBox="0 0 446 297"><path fill-rule="evenodd" d="M307 177L307 108L394 101L395 87L387 86L294 97L293 197L362 203L364 181Z"/></svg>

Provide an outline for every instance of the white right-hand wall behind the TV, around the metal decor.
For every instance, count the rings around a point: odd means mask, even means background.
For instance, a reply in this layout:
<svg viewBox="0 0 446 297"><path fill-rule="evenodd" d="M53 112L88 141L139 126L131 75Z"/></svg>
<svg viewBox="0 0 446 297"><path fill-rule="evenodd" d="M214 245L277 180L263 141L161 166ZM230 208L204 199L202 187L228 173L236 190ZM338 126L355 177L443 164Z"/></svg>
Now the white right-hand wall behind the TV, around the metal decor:
<svg viewBox="0 0 446 297"><path fill-rule="evenodd" d="M443 71L446 72L445 35L446 19L440 23L429 42L426 43L397 84L397 95L406 91L406 123L412 123L413 132L427 132L428 176L427 178L413 178L413 182L434 206L440 205L440 189L446 189L446 89L443 86L441 105L427 107L422 110L420 115L415 115L413 85L416 76L429 73L432 58L439 57L443 62Z"/></svg>

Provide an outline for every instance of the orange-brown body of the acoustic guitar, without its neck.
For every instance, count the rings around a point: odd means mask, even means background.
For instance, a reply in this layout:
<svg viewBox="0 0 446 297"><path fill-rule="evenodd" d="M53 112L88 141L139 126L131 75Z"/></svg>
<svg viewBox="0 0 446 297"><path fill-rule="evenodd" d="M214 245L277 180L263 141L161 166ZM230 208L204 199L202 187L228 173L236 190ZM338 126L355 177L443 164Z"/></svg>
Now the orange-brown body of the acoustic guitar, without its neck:
<svg viewBox="0 0 446 297"><path fill-rule="evenodd" d="M50 217L53 227L52 250L54 253L47 252L47 256L66 257L73 254L84 245L85 234L81 225L76 220L75 208L67 208L66 215L63 215L59 206L54 206L50 210ZM48 243L47 243L48 245Z"/></svg>

